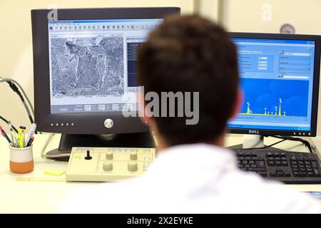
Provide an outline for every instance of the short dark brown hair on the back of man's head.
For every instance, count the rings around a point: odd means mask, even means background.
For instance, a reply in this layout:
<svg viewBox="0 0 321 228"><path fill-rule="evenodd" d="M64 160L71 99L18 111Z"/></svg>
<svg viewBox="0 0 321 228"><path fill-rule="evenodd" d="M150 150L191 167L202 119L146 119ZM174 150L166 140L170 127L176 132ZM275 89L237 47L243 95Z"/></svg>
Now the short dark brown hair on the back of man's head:
<svg viewBox="0 0 321 228"><path fill-rule="evenodd" d="M171 16L138 52L138 83L158 95L199 92L198 124L186 125L179 117L154 119L169 145L213 141L223 134L238 93L235 45L208 19Z"/></svg>

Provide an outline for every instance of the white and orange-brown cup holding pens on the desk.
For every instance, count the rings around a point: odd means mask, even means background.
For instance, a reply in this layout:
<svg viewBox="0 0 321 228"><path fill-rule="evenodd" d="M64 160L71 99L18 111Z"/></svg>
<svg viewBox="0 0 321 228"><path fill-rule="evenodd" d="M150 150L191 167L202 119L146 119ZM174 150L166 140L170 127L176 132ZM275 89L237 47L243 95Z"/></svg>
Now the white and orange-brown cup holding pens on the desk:
<svg viewBox="0 0 321 228"><path fill-rule="evenodd" d="M34 171L32 145L25 148L10 147L10 170L19 174Z"/></svg>

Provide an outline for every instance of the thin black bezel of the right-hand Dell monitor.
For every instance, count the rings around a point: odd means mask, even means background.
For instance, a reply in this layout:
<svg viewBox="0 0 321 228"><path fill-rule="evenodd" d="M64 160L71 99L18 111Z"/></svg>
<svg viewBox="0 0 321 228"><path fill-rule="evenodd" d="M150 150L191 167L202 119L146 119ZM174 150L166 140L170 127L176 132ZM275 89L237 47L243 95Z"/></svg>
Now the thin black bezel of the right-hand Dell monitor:
<svg viewBox="0 0 321 228"><path fill-rule="evenodd" d="M260 38L260 39L282 39L297 41L315 41L315 63L313 76L312 92L312 115L311 130L274 130L274 129L257 129L257 128L228 128L229 133L250 134L250 135L282 135L282 136L308 136L317 135L317 109L319 100L319 81L320 81L320 53L321 53L321 36L317 35L298 35L298 34L280 34L280 33L238 33L230 32L231 38Z"/></svg>

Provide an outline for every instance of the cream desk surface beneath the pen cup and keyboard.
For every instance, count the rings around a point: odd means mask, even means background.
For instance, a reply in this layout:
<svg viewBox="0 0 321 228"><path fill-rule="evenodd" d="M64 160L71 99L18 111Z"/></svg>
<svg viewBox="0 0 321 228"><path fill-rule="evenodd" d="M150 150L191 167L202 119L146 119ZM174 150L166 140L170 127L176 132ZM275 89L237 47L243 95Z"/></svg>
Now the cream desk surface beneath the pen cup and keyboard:
<svg viewBox="0 0 321 228"><path fill-rule="evenodd" d="M9 170L9 145L0 138L0 213L55 213L59 212L61 202L68 191L75 187L101 185L101 183L64 182L61 177L44 175L50 169L66 170L67 162L55 162L41 158L41 149L49 135L36 135L34 140L34 172L16 175ZM55 135L46 151L58 147L60 135ZM277 140L267 138L269 145ZM228 135L225 145L237 145L243 142L242 135ZM321 148L321 138L313 140ZM285 141L280 149L307 152L300 142ZM320 150L319 150L320 151ZM17 177L31 177L29 181L16 180ZM33 179L34 178L34 179ZM39 181L45 180L45 181ZM38 180L38 181L36 181ZM321 191L321 185L286 185L300 191Z"/></svg>

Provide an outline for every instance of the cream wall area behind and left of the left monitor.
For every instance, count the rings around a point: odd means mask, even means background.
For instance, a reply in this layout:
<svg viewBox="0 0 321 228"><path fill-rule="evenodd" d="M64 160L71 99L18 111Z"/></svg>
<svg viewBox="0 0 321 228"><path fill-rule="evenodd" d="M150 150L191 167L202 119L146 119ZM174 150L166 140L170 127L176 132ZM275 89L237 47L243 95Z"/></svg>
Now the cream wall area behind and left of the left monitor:
<svg viewBox="0 0 321 228"><path fill-rule="evenodd" d="M0 1L0 76L14 78L34 100L31 9L179 6L183 14L193 13L193 0L1 0ZM0 115L14 125L28 125L29 119L19 100L6 83L0 84ZM4 125L0 121L0 125Z"/></svg>

